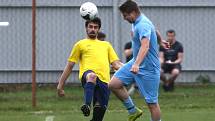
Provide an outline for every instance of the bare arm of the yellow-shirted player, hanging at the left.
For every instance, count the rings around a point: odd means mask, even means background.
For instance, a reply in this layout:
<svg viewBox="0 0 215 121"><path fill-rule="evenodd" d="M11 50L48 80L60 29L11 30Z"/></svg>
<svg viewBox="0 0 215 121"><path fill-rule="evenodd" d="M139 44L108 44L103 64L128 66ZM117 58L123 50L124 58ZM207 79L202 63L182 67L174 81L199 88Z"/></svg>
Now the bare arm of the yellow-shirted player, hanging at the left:
<svg viewBox="0 0 215 121"><path fill-rule="evenodd" d="M75 65L74 62L67 62L61 77L58 79L57 91L60 97L64 96L64 84L67 78L69 77L70 73L72 72L74 65Z"/></svg>

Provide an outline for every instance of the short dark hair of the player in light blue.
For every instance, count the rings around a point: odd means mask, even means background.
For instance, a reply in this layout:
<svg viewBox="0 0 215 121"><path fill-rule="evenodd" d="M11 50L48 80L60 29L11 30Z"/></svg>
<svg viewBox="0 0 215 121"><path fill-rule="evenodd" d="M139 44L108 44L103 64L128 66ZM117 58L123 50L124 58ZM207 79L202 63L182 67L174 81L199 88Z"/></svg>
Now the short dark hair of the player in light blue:
<svg viewBox="0 0 215 121"><path fill-rule="evenodd" d="M136 13L140 13L137 3L132 0L127 0L126 2L124 2L121 6L119 6L119 10L122 13L128 13L128 14L133 11L135 11Z"/></svg>

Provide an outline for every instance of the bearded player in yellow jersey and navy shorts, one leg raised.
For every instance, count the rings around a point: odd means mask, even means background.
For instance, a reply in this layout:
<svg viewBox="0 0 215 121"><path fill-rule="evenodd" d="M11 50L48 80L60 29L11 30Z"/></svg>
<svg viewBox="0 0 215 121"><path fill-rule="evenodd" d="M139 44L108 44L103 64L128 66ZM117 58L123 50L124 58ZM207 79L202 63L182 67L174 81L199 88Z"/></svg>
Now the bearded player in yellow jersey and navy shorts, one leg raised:
<svg viewBox="0 0 215 121"><path fill-rule="evenodd" d="M75 63L79 62L79 79L84 88L84 104L81 110L84 116L89 116L93 101L91 121L103 120L110 95L107 85L110 80L110 64L116 70L123 65L111 44L97 39L100 27L100 18L85 22L87 38L74 45L57 86L58 95L64 96L65 80L72 72Z"/></svg>

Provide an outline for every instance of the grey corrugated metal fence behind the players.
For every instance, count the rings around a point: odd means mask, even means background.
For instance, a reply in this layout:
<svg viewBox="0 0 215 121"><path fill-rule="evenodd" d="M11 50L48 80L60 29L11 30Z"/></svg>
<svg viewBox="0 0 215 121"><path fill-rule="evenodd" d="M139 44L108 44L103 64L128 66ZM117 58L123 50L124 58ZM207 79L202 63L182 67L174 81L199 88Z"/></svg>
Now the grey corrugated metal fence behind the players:
<svg viewBox="0 0 215 121"><path fill-rule="evenodd" d="M89 0L37 0L36 69L38 83L56 83L75 42L85 37L79 7ZM130 24L118 6L124 0L90 0L98 6L101 30L125 62ZM207 75L215 82L215 2L213 0L136 0L165 39L168 29L184 46L182 74L176 82L196 82ZM0 0L0 83L31 83L31 0ZM68 82L79 83L75 67Z"/></svg>

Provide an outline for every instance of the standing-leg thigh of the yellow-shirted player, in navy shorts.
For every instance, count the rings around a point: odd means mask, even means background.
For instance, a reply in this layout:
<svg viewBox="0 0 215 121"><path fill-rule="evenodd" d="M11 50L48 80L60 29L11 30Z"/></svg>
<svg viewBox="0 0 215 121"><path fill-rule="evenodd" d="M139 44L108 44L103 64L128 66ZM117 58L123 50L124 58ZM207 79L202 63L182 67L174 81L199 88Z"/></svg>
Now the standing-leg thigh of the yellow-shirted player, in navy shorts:
<svg viewBox="0 0 215 121"><path fill-rule="evenodd" d="M109 96L110 90L108 89L107 83L104 83L97 79L94 91L93 104L95 105L98 102L101 106L107 107Z"/></svg>

